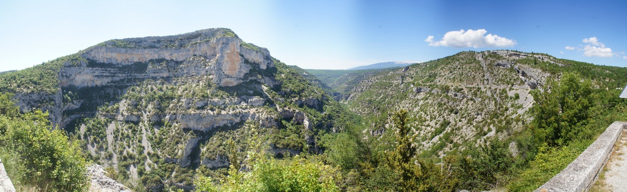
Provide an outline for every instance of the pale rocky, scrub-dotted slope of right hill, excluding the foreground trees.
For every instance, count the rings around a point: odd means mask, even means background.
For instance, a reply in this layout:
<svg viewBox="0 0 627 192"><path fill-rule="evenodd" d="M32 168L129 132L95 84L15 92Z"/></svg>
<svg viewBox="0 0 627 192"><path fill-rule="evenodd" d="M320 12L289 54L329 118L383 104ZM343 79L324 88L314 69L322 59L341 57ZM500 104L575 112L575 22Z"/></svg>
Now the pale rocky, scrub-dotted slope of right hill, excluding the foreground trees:
<svg viewBox="0 0 627 192"><path fill-rule="evenodd" d="M530 91L563 72L580 73L619 88L616 79L621 74L611 68L538 53L461 52L406 68L364 73L330 86L352 87L341 101L365 117L365 136L384 146L388 140L382 138L391 134L389 114L408 109L419 150L425 156L441 156L525 128L534 103ZM510 144L514 154L516 146Z"/></svg>

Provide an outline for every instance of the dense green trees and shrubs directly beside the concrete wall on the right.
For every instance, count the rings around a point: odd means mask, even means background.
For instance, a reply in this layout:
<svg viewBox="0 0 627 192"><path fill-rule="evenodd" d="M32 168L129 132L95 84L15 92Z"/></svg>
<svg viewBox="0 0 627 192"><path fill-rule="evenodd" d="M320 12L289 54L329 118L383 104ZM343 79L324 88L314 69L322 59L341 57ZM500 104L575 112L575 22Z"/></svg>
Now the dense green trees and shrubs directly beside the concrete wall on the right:
<svg viewBox="0 0 627 192"><path fill-rule="evenodd" d="M595 88L588 79L566 73L535 92L534 121L514 139L522 161L517 161L507 188L532 191L545 183L593 143L613 121L624 121L626 104L618 91Z"/></svg>

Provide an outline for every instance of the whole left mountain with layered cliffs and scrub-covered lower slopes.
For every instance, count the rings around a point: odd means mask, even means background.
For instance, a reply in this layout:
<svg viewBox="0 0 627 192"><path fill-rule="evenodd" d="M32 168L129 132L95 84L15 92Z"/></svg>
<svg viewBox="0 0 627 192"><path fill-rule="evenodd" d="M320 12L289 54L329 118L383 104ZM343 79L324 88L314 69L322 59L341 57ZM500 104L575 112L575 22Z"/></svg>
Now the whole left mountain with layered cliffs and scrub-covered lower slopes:
<svg viewBox="0 0 627 192"><path fill-rule="evenodd" d="M319 136L343 129L336 116L347 113L224 28L105 41L2 73L0 91L48 111L114 179L155 190L193 189L197 171L228 168L226 139L245 156L253 129L276 156L322 153Z"/></svg>

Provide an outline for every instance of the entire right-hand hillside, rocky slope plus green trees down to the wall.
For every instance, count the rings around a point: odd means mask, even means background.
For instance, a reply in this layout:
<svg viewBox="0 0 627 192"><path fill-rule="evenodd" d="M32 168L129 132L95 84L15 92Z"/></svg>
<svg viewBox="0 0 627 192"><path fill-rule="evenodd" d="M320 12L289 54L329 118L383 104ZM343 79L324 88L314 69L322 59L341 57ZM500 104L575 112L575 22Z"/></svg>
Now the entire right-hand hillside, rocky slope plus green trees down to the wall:
<svg viewBox="0 0 627 192"><path fill-rule="evenodd" d="M371 146L372 156L389 156L385 151L398 148L391 116L407 109L415 156L448 167L450 172L441 174L458 182L438 191L532 191L611 122L624 120L625 103L617 88L627 83L619 78L625 74L625 68L545 54L462 52L371 74L352 85L343 102L364 117L366 126L354 131L354 138L366 138L360 142ZM382 157L369 164L377 170ZM389 178L378 174L361 178Z"/></svg>

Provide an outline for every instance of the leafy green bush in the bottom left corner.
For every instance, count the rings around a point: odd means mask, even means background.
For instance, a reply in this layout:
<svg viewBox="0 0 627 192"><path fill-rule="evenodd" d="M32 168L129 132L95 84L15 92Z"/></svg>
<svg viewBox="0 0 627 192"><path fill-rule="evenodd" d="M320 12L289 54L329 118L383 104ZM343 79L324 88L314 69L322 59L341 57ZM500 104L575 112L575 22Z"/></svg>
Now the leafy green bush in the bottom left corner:
<svg viewBox="0 0 627 192"><path fill-rule="evenodd" d="M11 98L1 94L0 98ZM6 105L11 101L1 101ZM10 106L2 106L6 109ZM51 128L48 113L39 110L25 114L3 114L0 147L9 149L14 159L23 164L19 183L36 186L43 191L85 191L88 176L85 159L77 142L68 141L60 129ZM10 169L10 168L8 168ZM14 173L14 172L13 172Z"/></svg>

